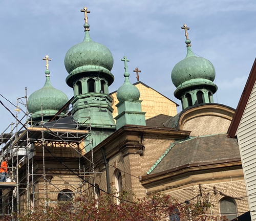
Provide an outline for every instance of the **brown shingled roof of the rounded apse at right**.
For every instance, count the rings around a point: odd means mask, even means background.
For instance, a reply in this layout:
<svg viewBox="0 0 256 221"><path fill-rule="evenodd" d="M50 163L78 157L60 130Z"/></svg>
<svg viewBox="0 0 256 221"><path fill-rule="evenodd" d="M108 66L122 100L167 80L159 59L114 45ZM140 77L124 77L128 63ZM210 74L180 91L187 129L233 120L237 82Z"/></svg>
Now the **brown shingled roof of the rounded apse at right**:
<svg viewBox="0 0 256 221"><path fill-rule="evenodd" d="M192 138L175 144L150 174L197 162L240 158L236 139L226 134Z"/></svg>

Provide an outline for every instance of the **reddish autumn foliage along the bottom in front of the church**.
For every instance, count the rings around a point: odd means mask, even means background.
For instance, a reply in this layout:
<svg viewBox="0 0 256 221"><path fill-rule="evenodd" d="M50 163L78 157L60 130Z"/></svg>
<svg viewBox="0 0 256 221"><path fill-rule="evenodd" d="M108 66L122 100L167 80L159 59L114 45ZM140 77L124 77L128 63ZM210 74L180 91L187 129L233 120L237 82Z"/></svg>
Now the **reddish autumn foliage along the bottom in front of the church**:
<svg viewBox="0 0 256 221"><path fill-rule="evenodd" d="M141 199L127 191L119 193L118 199L115 195L103 194L93 201L82 196L74 201L59 202L56 206L34 208L17 218L20 221L157 221L172 216L180 221L227 220L207 216L208 203L180 204L168 194L155 193Z"/></svg>

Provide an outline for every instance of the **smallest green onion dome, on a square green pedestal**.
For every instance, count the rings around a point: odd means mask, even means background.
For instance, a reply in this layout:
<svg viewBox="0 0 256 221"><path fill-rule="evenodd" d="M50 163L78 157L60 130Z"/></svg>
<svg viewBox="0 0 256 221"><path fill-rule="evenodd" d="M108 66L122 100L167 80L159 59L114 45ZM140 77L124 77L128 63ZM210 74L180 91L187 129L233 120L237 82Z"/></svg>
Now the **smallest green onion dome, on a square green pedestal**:
<svg viewBox="0 0 256 221"><path fill-rule="evenodd" d="M124 83L122 86L119 87L117 90L116 96L118 101L122 101L124 99L127 100L139 100L140 98L140 91L134 86L130 80L130 74L128 72L124 72L123 76L125 77Z"/></svg>

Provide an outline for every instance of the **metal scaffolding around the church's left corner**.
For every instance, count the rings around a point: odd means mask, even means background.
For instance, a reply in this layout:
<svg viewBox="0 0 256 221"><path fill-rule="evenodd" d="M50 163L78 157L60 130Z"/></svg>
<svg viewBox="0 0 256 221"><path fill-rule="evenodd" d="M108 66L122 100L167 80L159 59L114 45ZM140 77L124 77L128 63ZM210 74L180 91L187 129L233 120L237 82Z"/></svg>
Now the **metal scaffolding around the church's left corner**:
<svg viewBox="0 0 256 221"><path fill-rule="evenodd" d="M35 122L32 113L28 113L25 89L25 96L17 98L15 112L15 123L0 137L0 161L9 159L7 182L0 183L0 220L15 220L14 214L85 194L88 182L93 183L95 195L90 110L82 125L70 114L55 117L70 117L72 124L61 123L61 120L45 123L43 112L41 121ZM87 147L90 147L90 159L84 157ZM90 171L85 170L86 162L91 165Z"/></svg>

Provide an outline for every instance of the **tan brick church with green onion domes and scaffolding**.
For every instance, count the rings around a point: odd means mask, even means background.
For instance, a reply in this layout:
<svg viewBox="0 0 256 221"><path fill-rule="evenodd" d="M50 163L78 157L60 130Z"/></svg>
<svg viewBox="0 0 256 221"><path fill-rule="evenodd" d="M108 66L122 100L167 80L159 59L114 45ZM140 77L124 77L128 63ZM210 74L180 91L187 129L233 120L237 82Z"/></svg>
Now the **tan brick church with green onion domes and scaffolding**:
<svg viewBox="0 0 256 221"><path fill-rule="evenodd" d="M214 65L193 53L189 28L182 27L186 56L166 82L176 86L174 96L182 106L177 113L179 104L168 95L139 77L130 82L133 70L125 56L115 58L124 63L124 83L109 92L112 53L91 39L90 11L81 11L84 39L65 56L66 83L74 96L69 99L52 86L46 56L45 85L26 97L26 123L18 122L16 133L2 134L1 159L10 159L12 174L10 182L0 183L0 216L85 193L118 195L122 189L137 197L164 192L181 203L207 202L214 205L209 216L229 220L247 212L239 145L227 135L236 110L214 102Z"/></svg>

